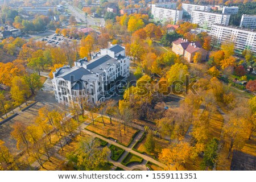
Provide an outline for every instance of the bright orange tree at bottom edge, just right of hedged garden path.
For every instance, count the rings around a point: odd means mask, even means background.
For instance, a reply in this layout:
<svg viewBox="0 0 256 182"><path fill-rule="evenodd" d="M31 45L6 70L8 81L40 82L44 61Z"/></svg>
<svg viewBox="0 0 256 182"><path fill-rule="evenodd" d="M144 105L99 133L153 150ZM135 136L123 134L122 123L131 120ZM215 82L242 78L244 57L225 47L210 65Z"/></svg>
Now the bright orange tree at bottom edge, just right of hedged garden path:
<svg viewBox="0 0 256 182"><path fill-rule="evenodd" d="M170 148L164 148L159 154L159 160L167 165L167 170L178 170L188 161L190 152L189 143L179 142Z"/></svg>

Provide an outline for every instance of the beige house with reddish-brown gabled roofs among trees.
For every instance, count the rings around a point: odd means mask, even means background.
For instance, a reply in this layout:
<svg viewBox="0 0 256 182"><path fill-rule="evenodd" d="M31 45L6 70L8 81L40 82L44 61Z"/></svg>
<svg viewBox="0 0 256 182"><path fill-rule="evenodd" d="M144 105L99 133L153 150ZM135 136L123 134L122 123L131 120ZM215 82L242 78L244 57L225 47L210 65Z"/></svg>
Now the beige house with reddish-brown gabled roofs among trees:
<svg viewBox="0 0 256 182"><path fill-rule="evenodd" d="M201 47L200 42L188 42L188 39L179 38L172 42L172 51L177 55L183 55L189 62L193 62L193 56L196 52L201 53L201 60L205 60L207 57L207 51Z"/></svg>

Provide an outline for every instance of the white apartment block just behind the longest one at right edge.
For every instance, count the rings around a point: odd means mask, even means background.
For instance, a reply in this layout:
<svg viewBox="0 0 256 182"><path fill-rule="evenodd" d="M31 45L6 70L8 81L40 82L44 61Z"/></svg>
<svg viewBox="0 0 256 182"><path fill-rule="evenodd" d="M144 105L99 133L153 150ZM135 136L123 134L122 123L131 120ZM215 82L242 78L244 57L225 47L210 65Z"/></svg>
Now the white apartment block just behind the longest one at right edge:
<svg viewBox="0 0 256 182"><path fill-rule="evenodd" d="M229 24L230 14L210 13L206 11L193 10L191 23L199 24L200 28L211 30L213 24Z"/></svg>

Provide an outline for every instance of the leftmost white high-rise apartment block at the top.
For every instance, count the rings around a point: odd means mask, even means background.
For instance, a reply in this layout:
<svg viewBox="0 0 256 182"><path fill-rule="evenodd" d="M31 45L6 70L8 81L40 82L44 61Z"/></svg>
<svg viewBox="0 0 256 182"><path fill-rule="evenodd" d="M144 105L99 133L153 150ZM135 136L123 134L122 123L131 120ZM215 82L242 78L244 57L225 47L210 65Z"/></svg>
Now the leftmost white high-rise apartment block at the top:
<svg viewBox="0 0 256 182"><path fill-rule="evenodd" d="M152 5L151 14L153 15L155 22L173 22L173 24L176 24L177 21L182 19L183 11Z"/></svg>

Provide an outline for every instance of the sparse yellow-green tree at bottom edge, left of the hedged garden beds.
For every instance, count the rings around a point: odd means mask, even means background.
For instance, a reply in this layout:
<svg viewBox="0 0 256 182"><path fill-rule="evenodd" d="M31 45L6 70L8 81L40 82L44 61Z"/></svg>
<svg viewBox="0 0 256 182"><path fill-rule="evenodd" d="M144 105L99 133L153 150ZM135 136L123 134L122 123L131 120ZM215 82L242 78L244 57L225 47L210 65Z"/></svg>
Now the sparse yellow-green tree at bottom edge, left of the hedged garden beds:
<svg viewBox="0 0 256 182"><path fill-rule="evenodd" d="M80 138L75 152L67 154L69 162L78 170L99 170L108 162L108 147L100 148L100 141L92 138Z"/></svg>

